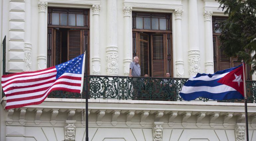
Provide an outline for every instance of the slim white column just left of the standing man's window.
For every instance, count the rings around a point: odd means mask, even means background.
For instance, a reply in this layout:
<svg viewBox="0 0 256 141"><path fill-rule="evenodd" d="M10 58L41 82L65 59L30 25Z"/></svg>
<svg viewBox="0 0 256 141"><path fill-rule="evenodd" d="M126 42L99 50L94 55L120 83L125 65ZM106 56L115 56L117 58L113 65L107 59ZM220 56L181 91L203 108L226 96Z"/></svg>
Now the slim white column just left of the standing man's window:
<svg viewBox="0 0 256 141"><path fill-rule="evenodd" d="M132 62L132 25L131 25L132 7L123 7L124 13L124 75L128 76L130 63Z"/></svg>

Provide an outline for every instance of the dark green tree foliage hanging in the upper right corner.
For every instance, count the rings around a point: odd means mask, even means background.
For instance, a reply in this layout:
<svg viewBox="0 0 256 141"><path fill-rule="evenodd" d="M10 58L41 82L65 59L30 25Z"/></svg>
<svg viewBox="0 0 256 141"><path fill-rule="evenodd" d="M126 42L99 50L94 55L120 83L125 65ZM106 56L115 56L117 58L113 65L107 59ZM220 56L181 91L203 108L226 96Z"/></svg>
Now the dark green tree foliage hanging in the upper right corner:
<svg viewBox="0 0 256 141"><path fill-rule="evenodd" d="M218 23L220 40L229 56L238 56L256 70L256 0L217 0L228 19ZM254 54L253 56L251 56Z"/></svg>

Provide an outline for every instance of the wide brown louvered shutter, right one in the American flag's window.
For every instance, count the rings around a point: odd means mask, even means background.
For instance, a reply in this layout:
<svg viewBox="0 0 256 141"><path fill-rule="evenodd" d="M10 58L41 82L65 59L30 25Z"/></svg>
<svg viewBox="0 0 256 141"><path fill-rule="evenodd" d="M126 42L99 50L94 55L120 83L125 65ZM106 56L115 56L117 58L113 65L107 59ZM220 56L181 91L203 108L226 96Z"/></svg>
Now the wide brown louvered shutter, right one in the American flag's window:
<svg viewBox="0 0 256 141"><path fill-rule="evenodd" d="M68 59L73 59L82 54L82 30L68 30L67 35L67 56Z"/></svg>

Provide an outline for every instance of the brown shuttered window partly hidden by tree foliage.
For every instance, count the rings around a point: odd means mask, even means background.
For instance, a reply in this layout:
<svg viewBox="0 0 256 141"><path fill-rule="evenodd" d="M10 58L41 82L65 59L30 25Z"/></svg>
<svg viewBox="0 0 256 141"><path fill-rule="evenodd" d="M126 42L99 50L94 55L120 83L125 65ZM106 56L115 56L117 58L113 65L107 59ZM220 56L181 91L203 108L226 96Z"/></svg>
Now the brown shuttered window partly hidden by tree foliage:
<svg viewBox="0 0 256 141"><path fill-rule="evenodd" d="M218 70L225 70L232 67L236 67L241 65L241 61L238 60L237 57L227 57L224 54L224 48L219 48L221 45L221 41L219 40L219 35L221 35L221 31L217 27L218 22L222 22L226 20L226 17L212 17L212 37L213 37L213 64L214 64L214 72ZM251 80L251 76L249 74L250 66L246 65L246 78L247 80Z"/></svg>

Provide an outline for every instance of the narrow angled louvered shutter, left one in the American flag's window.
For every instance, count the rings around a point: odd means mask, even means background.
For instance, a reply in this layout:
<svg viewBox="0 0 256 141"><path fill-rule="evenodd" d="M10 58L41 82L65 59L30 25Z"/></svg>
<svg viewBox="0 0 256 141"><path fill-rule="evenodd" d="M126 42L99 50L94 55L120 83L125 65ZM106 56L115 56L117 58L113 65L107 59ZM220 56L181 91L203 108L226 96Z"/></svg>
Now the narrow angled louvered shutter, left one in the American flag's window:
<svg viewBox="0 0 256 141"><path fill-rule="evenodd" d="M61 31L54 29L54 65L61 64Z"/></svg>

